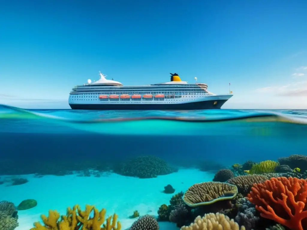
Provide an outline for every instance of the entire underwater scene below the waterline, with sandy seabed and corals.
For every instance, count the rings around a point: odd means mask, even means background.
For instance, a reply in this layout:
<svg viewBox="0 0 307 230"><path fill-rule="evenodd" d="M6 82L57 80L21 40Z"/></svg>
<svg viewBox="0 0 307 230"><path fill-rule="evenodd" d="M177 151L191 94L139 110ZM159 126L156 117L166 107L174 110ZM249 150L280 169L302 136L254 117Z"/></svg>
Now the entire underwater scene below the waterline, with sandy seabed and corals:
<svg viewBox="0 0 307 230"><path fill-rule="evenodd" d="M0 230L306 230L307 110L0 105Z"/></svg>

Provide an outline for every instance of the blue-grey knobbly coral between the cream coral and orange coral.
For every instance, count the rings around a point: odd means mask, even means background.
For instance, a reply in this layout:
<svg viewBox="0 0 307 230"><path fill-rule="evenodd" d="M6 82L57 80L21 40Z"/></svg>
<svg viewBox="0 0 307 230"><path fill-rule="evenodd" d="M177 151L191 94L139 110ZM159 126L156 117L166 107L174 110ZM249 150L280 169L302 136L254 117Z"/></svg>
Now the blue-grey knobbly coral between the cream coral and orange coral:
<svg viewBox="0 0 307 230"><path fill-rule="evenodd" d="M246 230L255 229L260 219L256 216L255 205L245 197L238 199L236 205L238 207L238 213L235 217L235 222L240 226L244 226Z"/></svg>

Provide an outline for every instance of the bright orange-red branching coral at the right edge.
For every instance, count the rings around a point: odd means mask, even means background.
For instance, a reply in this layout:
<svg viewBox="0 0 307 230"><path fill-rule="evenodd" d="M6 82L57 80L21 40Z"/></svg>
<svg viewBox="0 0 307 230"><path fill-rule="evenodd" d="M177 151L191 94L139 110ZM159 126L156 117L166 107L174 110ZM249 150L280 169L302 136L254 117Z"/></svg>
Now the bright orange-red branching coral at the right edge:
<svg viewBox="0 0 307 230"><path fill-rule="evenodd" d="M307 229L307 181L298 178L270 178L254 184L248 200L264 218L292 230Z"/></svg>

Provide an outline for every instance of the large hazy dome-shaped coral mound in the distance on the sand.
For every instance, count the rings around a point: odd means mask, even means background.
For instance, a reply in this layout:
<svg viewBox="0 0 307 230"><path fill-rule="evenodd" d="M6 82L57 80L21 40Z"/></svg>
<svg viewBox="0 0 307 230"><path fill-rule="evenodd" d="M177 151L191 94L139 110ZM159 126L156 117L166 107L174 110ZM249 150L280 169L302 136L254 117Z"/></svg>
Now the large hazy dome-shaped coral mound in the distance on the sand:
<svg viewBox="0 0 307 230"><path fill-rule="evenodd" d="M138 178L153 178L176 172L177 169L156 156L138 156L121 164L116 173Z"/></svg>

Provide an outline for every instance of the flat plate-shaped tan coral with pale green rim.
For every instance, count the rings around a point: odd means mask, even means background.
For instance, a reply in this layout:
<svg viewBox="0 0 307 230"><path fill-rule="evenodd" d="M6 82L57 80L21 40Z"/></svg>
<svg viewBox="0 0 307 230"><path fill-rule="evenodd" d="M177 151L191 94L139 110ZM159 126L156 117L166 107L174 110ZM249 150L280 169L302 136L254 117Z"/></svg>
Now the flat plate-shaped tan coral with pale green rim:
<svg viewBox="0 0 307 230"><path fill-rule="evenodd" d="M237 193L237 186L229 183L203 182L189 187L183 196L183 201L190 207L196 207L220 200L231 200Z"/></svg>

